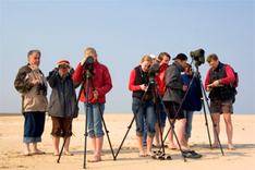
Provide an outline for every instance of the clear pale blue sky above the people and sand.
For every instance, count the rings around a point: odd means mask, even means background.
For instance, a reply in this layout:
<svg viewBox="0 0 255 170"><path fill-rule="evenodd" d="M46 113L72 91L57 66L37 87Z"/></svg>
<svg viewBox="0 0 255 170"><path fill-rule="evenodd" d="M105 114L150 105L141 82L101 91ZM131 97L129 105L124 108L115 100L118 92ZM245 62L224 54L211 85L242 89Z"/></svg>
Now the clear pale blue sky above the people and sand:
<svg viewBox="0 0 255 170"><path fill-rule="evenodd" d="M253 0L0 0L0 112L21 112L13 81L28 50L41 51L48 75L94 47L112 76L106 113L132 112L129 76L143 56L183 52L191 62L203 48L239 72L234 112L254 114L254 9ZM199 66L203 82L208 69Z"/></svg>

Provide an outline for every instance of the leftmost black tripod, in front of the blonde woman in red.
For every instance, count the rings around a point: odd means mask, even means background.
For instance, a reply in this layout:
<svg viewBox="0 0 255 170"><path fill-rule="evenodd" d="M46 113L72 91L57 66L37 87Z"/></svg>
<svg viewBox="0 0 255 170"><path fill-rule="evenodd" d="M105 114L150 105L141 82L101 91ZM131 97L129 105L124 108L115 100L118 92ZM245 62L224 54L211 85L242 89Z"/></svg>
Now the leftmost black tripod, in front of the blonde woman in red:
<svg viewBox="0 0 255 170"><path fill-rule="evenodd" d="M86 70L86 74L83 75L83 82L82 82L82 86L81 86L81 89L80 89L80 93L78 93L78 97L77 97L77 102L76 105L78 105L78 99L81 97L81 94L82 92L84 92L84 94L86 94L86 122L85 122L85 144L84 144L84 165L83 165L83 168L86 169L86 147L87 147L87 114L88 114L88 107L89 107L89 104L88 104L88 92L89 92L89 82L92 83L92 88L93 88L93 92L95 90L95 86L94 86L94 83L93 83L93 80L92 77L95 75L95 73L92 71L92 69L88 69ZM86 82L86 93L85 93L85 88L84 88L84 85L85 85L85 82ZM110 142L110 137L109 137L109 131L107 130L107 126L106 126L106 122L105 122L105 119L102 117L102 111L100 109L100 104L97 100L97 106L98 106L98 109L99 109L99 112L100 112L100 116L101 116L101 121L102 121L102 124L104 124L104 127L105 127L105 131L106 131L106 134L107 134L107 138L108 138L108 142L109 142L109 145L110 145L110 149L111 149L111 153L112 153L112 156L113 156L113 159L116 160L116 157L114 157L114 153L113 153L113 149L112 149L112 145L111 145L111 142ZM75 107L75 109L77 109L77 107ZM77 111L77 110L75 110ZM62 148L61 148L61 151L60 151L60 155L59 155L59 158L58 158L58 163L60 161L60 157L62 155L62 151L63 151L63 147L64 147L64 144L66 142L66 137L70 133L70 129L71 129L71 124L72 124L72 121L73 121L73 117L71 118L71 121L70 121L70 124L69 124L69 127L68 127L68 132L64 136L64 142L63 142L63 145L62 145Z"/></svg>

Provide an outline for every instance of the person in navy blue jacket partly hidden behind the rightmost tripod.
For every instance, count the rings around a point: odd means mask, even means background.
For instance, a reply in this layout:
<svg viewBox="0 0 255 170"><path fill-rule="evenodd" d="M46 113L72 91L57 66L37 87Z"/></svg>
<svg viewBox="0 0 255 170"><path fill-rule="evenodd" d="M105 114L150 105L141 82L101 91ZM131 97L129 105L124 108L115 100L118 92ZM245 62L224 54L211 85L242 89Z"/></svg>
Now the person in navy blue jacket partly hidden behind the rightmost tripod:
<svg viewBox="0 0 255 170"><path fill-rule="evenodd" d="M182 75L182 82L189 87L194 76L194 73L192 71L192 65L187 63L186 66L184 68L184 72L185 74ZM184 146L189 146L187 142L189 138L191 137L193 113L194 111L199 111L202 109L202 101L201 101L202 90L198 77L196 76L194 77L191 87L186 93L187 94L182 105L183 113L186 118L185 133L183 138Z"/></svg>

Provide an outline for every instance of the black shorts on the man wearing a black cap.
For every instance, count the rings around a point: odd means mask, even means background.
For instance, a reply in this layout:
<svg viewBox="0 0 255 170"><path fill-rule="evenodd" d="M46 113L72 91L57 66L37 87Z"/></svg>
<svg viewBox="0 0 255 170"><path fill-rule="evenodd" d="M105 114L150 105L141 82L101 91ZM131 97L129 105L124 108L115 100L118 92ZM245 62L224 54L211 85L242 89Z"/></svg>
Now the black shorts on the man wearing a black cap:
<svg viewBox="0 0 255 170"><path fill-rule="evenodd" d="M170 119L184 119L184 113L182 108L179 110L180 105L174 102L174 101L165 101L165 105L169 111L168 117L170 117ZM179 110L178 114L177 111Z"/></svg>

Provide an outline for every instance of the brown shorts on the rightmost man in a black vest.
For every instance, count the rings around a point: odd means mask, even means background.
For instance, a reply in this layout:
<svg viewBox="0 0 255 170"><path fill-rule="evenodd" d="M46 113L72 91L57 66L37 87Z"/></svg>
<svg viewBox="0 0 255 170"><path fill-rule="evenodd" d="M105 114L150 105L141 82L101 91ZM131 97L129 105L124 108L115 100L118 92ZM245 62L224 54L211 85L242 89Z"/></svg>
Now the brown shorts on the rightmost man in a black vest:
<svg viewBox="0 0 255 170"><path fill-rule="evenodd" d="M211 113L233 113L232 99L210 101Z"/></svg>

